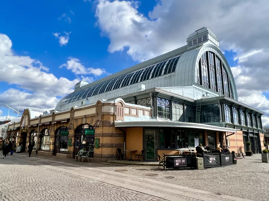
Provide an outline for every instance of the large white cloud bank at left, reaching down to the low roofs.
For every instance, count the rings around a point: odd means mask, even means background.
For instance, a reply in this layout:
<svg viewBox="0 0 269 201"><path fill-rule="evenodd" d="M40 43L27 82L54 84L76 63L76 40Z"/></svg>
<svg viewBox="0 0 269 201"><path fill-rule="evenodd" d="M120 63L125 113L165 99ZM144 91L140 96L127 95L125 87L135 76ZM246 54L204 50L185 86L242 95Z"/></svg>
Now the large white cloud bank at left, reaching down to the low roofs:
<svg viewBox="0 0 269 201"><path fill-rule="evenodd" d="M0 107L32 108L43 112L55 108L60 97L73 92L79 78L68 80L48 73L49 68L28 56L18 56L11 49L7 35L0 34L0 81L17 85L0 94ZM22 91L21 91L22 89ZM27 91L27 92L25 92Z"/></svg>

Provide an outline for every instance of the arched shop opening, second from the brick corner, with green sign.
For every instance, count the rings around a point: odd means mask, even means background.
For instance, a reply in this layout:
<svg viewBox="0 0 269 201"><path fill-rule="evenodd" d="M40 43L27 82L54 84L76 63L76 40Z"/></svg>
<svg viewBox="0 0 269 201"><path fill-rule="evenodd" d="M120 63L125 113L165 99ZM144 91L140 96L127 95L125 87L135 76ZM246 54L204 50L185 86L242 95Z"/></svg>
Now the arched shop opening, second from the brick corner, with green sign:
<svg viewBox="0 0 269 201"><path fill-rule="evenodd" d="M68 134L69 130L67 127L62 126L55 132L55 144L53 155L56 156L57 153L67 154L68 151Z"/></svg>

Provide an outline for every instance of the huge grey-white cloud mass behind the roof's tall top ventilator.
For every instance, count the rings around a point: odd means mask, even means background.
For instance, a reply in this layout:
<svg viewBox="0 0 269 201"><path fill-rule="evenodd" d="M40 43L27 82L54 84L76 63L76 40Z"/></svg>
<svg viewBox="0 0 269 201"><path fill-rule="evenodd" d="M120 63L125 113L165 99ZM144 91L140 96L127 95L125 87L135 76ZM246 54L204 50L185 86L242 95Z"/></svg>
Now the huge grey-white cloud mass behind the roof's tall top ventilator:
<svg viewBox="0 0 269 201"><path fill-rule="evenodd" d="M157 1L145 15L138 6L136 1L99 0L95 16L101 36L110 40L109 52L126 50L133 60L145 61L187 45L189 34L207 27L222 52L235 54L232 72L239 100L268 111L268 1Z"/></svg>

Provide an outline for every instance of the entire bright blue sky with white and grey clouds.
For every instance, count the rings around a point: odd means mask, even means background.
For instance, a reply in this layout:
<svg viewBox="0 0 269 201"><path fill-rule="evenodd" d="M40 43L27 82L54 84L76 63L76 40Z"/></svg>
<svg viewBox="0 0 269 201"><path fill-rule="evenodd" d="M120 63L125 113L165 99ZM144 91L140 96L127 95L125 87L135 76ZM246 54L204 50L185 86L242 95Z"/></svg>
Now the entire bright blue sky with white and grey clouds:
<svg viewBox="0 0 269 201"><path fill-rule="evenodd" d="M98 80L182 47L188 35L202 27L219 38L233 67L239 100L269 111L267 65L255 64L257 58L265 62L264 55L269 52L268 39L260 41L268 30L258 30L268 22L268 12L263 12L268 3L261 8L251 1L194 2L1 1L5 9L0 13L0 54L1 43L5 45L0 56L0 117L8 113L5 104L40 112L51 109L82 78ZM248 12L241 11L242 7ZM211 13L201 15L206 9ZM11 43L12 47L6 45ZM12 71L12 76L3 75L1 68ZM255 68L260 74L252 72ZM264 77L258 79L260 75ZM249 87L249 83L255 84ZM255 100L250 100L250 91ZM269 118L263 120L269 122Z"/></svg>

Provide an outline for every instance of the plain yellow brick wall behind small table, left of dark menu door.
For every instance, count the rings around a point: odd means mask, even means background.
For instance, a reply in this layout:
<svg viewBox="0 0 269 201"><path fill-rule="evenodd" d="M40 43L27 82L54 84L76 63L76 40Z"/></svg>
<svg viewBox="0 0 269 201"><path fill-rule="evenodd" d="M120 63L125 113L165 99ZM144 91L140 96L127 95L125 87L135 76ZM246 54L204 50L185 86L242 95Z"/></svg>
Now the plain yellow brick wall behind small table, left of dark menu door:
<svg viewBox="0 0 269 201"><path fill-rule="evenodd" d="M143 128L142 127L132 127L126 128L126 150L137 150L132 151L132 159L135 159L135 154L143 149ZM131 152L126 151L126 158L131 158Z"/></svg>

